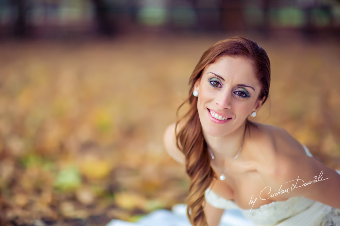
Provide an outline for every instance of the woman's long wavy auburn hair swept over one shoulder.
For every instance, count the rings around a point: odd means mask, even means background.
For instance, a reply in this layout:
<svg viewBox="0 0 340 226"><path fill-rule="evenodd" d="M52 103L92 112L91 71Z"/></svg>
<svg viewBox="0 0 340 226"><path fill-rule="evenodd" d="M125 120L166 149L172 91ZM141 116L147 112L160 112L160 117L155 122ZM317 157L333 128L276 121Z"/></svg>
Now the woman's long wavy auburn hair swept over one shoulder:
<svg viewBox="0 0 340 226"><path fill-rule="evenodd" d="M207 151L207 143L202 134L202 127L197 111L197 98L192 95L194 84L199 79L204 68L214 63L222 56L243 57L253 62L256 77L261 84L261 93L258 99L265 97L262 105L269 95L270 86L270 61L265 50L257 43L243 37L233 37L219 41L209 47L198 64L195 66L189 79L189 95L176 111L178 118L179 109L189 103L186 114L176 121L175 131L180 122L184 122L181 130L176 134L176 146L185 155L186 172L191 180L189 195L187 198L187 215L192 225L206 226L206 217L203 211L204 192L210 186L212 179L216 177L210 167L210 158ZM245 129L256 126L246 119ZM180 144L182 148L180 147Z"/></svg>

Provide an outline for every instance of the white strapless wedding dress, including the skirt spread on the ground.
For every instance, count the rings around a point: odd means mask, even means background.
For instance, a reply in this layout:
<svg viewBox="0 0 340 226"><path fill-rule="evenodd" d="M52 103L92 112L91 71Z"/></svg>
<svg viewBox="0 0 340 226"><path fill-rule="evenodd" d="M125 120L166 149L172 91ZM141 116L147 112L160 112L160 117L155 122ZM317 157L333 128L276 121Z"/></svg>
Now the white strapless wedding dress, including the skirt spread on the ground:
<svg viewBox="0 0 340 226"><path fill-rule="evenodd" d="M306 154L312 157L303 145ZM336 170L340 174L340 170ZM209 188L205 200L216 208L225 209L219 226L340 226L340 209L304 197L274 201L257 209L241 209L231 200L218 196ZM339 200L340 202L340 200ZM184 204L172 211L156 210L136 223L112 220L107 226L191 226Z"/></svg>

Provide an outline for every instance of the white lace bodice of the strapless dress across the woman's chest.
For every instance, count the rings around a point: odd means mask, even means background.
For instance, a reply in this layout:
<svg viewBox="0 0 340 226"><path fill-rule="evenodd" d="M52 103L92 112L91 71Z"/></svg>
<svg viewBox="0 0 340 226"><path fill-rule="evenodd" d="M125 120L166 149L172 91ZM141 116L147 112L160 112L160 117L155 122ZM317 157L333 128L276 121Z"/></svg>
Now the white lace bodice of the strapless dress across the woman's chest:
<svg viewBox="0 0 340 226"><path fill-rule="evenodd" d="M306 155L312 157L308 148L303 145ZM337 170L340 174L340 171ZM206 201L220 209L238 209L244 217L248 218L257 225L281 225L280 222L286 222L286 219L295 216L295 220L289 221L282 225L339 225L340 226L340 209L335 209L314 200L305 197L291 197L285 201L274 201L269 204L264 204L259 208L242 209L231 200L226 200L220 197L211 189L205 191ZM299 215L299 216L296 216ZM297 224L296 218L304 219ZM306 219L310 224L306 224ZM287 220L288 221L288 220ZM338 224L334 223L337 222ZM318 223L313 223L318 222Z"/></svg>

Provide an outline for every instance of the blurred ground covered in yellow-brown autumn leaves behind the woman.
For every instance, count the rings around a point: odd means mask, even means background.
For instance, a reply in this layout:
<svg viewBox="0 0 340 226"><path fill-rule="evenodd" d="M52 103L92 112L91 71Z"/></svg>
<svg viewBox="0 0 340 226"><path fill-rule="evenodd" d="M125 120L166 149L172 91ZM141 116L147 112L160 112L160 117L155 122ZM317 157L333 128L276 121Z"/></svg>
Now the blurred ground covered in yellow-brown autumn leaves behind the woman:
<svg viewBox="0 0 340 226"><path fill-rule="evenodd" d="M104 226L185 202L163 132L202 53L227 37L2 42L0 224ZM254 40L272 70L256 121L340 169L340 42Z"/></svg>

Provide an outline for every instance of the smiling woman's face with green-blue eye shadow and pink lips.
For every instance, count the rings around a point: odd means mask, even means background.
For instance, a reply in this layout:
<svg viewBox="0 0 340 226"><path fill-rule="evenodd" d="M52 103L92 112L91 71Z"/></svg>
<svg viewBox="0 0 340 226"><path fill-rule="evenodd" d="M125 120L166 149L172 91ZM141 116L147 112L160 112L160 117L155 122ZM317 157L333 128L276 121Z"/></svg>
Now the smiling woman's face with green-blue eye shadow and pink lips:
<svg viewBox="0 0 340 226"><path fill-rule="evenodd" d="M261 86L251 61L240 57L216 59L204 68L194 87L202 128L213 137L239 128L265 99L258 100ZM212 111L218 116L211 116Z"/></svg>

